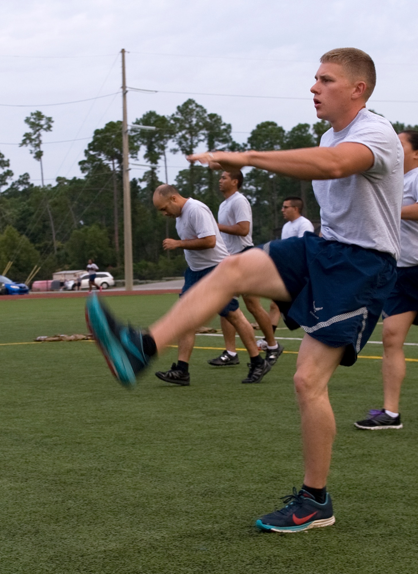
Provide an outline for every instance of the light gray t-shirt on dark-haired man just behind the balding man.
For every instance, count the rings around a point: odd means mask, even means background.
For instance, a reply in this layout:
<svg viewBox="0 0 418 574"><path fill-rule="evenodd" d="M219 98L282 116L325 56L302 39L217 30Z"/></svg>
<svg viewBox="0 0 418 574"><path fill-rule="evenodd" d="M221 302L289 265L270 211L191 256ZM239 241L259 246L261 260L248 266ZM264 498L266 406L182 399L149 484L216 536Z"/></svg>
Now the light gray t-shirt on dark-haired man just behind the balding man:
<svg viewBox="0 0 418 574"><path fill-rule="evenodd" d="M253 212L250 202L245 195L236 191L219 205L218 222L222 225L235 225L241 221L250 223L250 231L247 235L230 235L222 233L223 242L228 252L233 255L239 253L245 247L252 247L253 243Z"/></svg>

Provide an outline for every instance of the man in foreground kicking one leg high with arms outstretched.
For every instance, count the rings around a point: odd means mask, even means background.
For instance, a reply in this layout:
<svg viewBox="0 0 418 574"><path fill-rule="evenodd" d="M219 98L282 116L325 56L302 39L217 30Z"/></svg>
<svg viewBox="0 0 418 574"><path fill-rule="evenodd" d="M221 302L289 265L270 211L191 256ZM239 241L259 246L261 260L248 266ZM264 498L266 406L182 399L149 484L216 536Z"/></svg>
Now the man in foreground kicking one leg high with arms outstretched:
<svg viewBox="0 0 418 574"><path fill-rule="evenodd" d="M326 488L335 436L328 381L339 364L357 360L373 332L396 281L400 253L404 154L390 123L366 109L376 83L373 60L361 50L338 48L320 62L311 92L316 115L331 128L318 148L208 152L188 159L228 172L251 166L314 180L322 237L305 232L227 257L150 327L150 335L141 335L149 336L161 352L213 316L234 293L277 301L288 327L304 329L294 381L305 475L300 490L293 487L281 510L257 520L258 528L270 532L299 532L335 522ZM98 328L101 321L108 324L97 298L90 298L88 309ZM112 333L111 342L118 342ZM116 343L105 345L100 333L96 337L108 360L127 360ZM146 351L141 358L143 368L149 360ZM139 364L131 365L140 372ZM276 407L266 413L272 436L273 413L280 416ZM276 437L280 439L277 432ZM367 516L373 515L373 509L363 506Z"/></svg>

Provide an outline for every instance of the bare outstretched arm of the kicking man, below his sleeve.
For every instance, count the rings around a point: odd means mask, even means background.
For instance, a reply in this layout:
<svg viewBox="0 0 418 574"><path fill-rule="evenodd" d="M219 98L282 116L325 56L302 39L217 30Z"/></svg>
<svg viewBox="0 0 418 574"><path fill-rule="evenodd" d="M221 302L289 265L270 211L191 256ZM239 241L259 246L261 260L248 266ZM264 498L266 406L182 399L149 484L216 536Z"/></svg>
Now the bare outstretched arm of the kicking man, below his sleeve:
<svg viewBox="0 0 418 574"><path fill-rule="evenodd" d="M208 164L212 169L250 166L304 180L348 177L370 169L373 153L367 146L345 142L335 148L301 148L278 152L207 152L193 154L188 161Z"/></svg>

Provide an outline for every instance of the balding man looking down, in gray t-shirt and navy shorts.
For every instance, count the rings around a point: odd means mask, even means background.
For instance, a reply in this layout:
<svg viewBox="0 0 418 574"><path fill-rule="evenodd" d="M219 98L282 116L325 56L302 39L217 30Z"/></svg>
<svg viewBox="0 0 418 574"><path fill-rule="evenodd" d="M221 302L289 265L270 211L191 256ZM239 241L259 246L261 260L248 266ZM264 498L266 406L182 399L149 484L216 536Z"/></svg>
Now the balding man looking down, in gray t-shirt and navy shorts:
<svg viewBox="0 0 418 574"><path fill-rule="evenodd" d="M220 236L218 225L210 209L191 197L182 197L173 185L160 185L154 192L153 202L163 215L176 219L180 239L164 239L165 250L184 249L188 264L184 274L183 295L202 277L210 273L218 263L229 255ZM250 355L250 372L243 383L258 383L270 370L268 361L262 359L254 338L254 330L239 309L238 298L233 297L219 315L235 327ZM200 326L200 325L199 325ZM178 340L179 356L168 371L158 371L162 381L189 385L189 359L195 343L195 329L184 333Z"/></svg>

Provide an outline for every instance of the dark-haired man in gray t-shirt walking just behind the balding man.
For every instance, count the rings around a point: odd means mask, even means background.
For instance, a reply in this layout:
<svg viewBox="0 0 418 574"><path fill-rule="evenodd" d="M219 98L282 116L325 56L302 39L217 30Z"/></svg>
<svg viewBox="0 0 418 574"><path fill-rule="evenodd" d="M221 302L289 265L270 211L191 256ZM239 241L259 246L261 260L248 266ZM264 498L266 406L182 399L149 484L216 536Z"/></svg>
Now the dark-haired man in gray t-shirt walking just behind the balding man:
<svg viewBox="0 0 418 574"><path fill-rule="evenodd" d="M253 212L250 202L245 195L238 190L243 183L243 175L240 169L232 172L222 172L219 179L219 191L225 197L225 201L219 205L218 227L223 242L230 255L242 253L254 247L253 243ZM260 297L251 295L242 296L245 305L251 315L254 316L261 331L265 336L266 360L273 366L283 352L274 339L274 333L270 317L260 303ZM223 367L238 364L238 355L235 348L235 328L231 323L220 317L223 338L225 339L225 351L215 359L208 360L214 367ZM258 345L258 343L257 343Z"/></svg>

